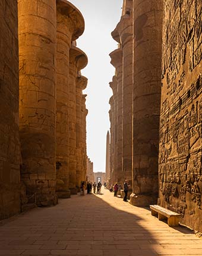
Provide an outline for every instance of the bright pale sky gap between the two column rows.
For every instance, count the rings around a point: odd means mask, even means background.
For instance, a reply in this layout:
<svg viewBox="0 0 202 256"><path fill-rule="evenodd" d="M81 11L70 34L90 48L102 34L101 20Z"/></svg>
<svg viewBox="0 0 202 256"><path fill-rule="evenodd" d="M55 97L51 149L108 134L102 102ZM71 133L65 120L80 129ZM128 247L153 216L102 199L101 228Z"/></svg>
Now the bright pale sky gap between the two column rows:
<svg viewBox="0 0 202 256"><path fill-rule="evenodd" d="M87 155L94 164L94 172L105 172L106 133L109 130L109 82L115 73L109 53L117 48L111 32L121 18L123 0L69 0L84 16L86 29L77 40L89 64L81 70L89 79L87 89Z"/></svg>

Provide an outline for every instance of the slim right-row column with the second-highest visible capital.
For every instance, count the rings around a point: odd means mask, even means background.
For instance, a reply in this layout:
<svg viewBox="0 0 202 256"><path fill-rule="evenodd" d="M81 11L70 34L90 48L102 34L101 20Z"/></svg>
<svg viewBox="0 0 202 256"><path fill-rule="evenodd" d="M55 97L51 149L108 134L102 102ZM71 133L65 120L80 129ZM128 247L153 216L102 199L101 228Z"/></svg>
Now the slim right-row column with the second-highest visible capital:
<svg viewBox="0 0 202 256"><path fill-rule="evenodd" d="M122 49L118 48L111 52L111 64L116 68L116 79L118 83L117 99L117 171L115 171L114 182L122 180Z"/></svg>

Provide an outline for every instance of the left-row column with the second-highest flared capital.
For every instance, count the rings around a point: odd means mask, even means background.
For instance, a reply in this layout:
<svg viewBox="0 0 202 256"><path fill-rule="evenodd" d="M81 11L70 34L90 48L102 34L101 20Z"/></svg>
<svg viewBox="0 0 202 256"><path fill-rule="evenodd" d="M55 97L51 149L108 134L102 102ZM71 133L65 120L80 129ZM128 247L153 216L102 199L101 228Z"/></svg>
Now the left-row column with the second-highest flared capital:
<svg viewBox="0 0 202 256"><path fill-rule="evenodd" d="M69 84L69 168L70 190L77 193L77 161L76 161L76 78L78 71L86 67L87 56L79 48L71 46L70 49L70 84Z"/></svg>

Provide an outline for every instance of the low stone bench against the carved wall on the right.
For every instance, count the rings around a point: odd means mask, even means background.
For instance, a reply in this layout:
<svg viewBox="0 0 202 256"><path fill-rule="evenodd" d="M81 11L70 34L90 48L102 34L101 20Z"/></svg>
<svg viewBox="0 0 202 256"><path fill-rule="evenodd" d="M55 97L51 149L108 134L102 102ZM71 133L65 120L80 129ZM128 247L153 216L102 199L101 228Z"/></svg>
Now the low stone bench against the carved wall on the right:
<svg viewBox="0 0 202 256"><path fill-rule="evenodd" d="M158 216L159 220L168 219L168 226L178 226L180 214L174 213L160 205L150 205L152 216Z"/></svg>

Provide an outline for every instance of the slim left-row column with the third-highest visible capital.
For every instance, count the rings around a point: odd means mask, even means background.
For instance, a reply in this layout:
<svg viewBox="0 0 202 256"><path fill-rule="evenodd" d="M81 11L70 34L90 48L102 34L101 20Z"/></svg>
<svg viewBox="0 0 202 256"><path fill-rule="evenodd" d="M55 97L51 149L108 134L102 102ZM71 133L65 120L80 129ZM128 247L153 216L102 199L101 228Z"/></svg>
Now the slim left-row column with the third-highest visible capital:
<svg viewBox="0 0 202 256"><path fill-rule="evenodd" d="M82 91L86 89L87 78L84 76L78 76L76 80L76 111L77 111L77 123L76 123L76 174L77 181L76 186L80 189L81 177L82 177Z"/></svg>

